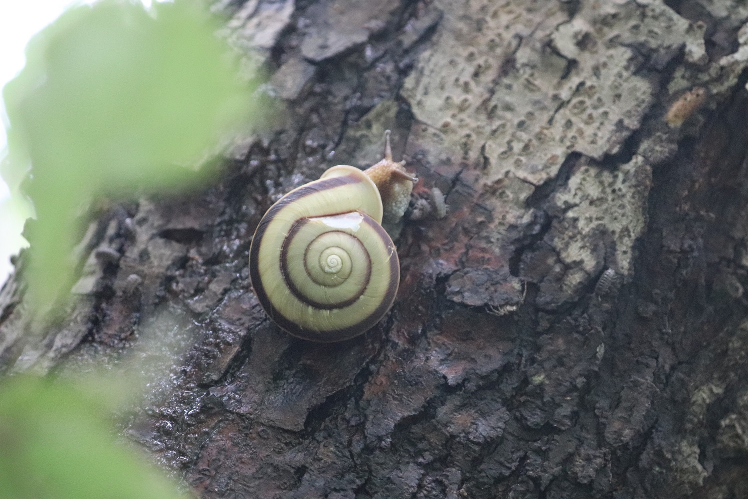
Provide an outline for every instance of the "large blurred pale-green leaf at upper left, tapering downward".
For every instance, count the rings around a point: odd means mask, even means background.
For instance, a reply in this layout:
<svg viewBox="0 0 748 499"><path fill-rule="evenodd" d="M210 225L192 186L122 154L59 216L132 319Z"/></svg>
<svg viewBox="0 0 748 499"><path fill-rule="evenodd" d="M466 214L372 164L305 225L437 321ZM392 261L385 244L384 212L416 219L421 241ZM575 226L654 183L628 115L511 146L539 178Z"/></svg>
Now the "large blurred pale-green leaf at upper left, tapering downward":
<svg viewBox="0 0 748 499"><path fill-rule="evenodd" d="M28 171L38 223L32 298L70 287L73 223L87 200L193 180L200 155L240 126L251 88L201 4L102 0L67 10L26 49L5 86L10 168ZM186 168L186 167L191 167Z"/></svg>

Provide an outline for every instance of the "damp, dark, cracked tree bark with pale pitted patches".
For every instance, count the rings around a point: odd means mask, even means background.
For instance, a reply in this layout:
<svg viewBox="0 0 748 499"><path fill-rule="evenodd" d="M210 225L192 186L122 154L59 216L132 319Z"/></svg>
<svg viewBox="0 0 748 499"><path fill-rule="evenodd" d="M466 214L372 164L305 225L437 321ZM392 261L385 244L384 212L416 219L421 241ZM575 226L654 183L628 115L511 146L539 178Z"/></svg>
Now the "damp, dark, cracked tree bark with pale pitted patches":
<svg viewBox="0 0 748 499"><path fill-rule="evenodd" d="M272 120L206 189L91 215L54 320L16 260L1 373L139 359L118 430L204 498L748 496L748 4L214 9ZM420 178L394 307L290 337L251 290L254 227L384 129Z"/></svg>

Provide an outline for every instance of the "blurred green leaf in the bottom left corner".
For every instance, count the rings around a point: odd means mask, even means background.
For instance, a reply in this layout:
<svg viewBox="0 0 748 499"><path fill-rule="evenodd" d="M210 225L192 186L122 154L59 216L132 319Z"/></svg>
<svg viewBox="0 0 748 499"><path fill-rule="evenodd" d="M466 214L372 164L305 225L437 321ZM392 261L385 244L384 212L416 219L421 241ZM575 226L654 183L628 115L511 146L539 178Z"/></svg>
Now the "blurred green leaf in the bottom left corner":
<svg viewBox="0 0 748 499"><path fill-rule="evenodd" d="M0 498L185 499L143 456L114 444L100 407L73 388L0 385Z"/></svg>

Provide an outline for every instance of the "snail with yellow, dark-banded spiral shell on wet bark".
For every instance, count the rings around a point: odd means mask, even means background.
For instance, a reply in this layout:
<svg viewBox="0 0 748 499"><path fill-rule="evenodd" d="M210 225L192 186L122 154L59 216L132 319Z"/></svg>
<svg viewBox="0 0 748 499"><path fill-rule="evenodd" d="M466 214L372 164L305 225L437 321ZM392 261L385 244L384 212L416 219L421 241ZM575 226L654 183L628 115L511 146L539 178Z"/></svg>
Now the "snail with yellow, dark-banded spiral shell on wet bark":
<svg viewBox="0 0 748 499"><path fill-rule="evenodd" d="M330 343L368 331L390 310L400 281L384 215L405 212L417 178L384 159L366 171L329 168L268 209L249 250L257 299L276 324ZM402 210L402 211L401 211Z"/></svg>

